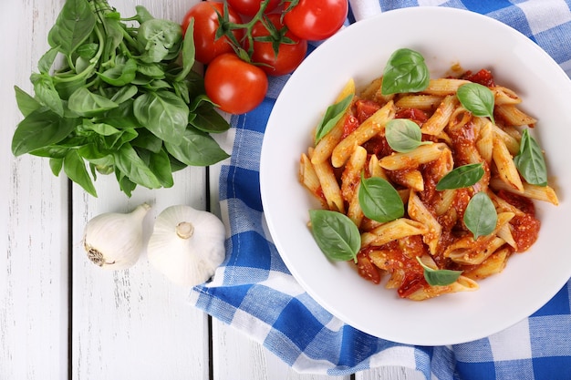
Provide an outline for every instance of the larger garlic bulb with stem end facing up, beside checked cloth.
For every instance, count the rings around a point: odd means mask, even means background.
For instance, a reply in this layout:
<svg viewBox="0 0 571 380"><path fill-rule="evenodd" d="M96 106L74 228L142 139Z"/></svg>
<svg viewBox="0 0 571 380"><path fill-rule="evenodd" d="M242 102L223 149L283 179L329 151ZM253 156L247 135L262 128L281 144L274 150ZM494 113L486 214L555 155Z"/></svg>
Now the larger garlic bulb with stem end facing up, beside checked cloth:
<svg viewBox="0 0 571 380"><path fill-rule="evenodd" d="M224 239L223 222L213 213L171 206L155 221L147 246L149 262L171 282L198 285L223 262Z"/></svg>

